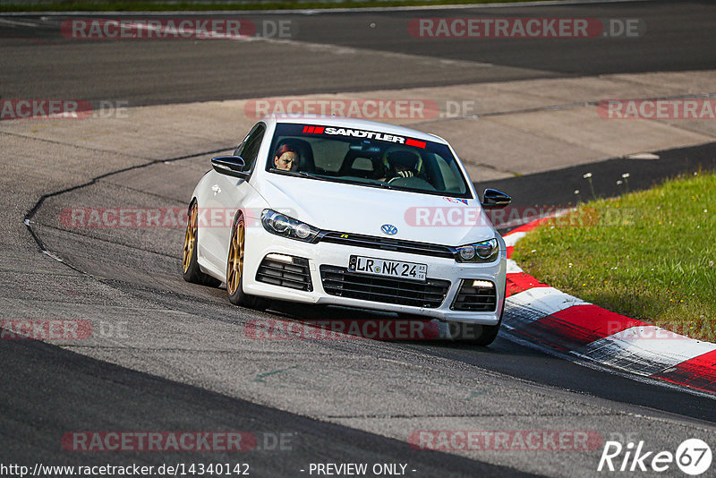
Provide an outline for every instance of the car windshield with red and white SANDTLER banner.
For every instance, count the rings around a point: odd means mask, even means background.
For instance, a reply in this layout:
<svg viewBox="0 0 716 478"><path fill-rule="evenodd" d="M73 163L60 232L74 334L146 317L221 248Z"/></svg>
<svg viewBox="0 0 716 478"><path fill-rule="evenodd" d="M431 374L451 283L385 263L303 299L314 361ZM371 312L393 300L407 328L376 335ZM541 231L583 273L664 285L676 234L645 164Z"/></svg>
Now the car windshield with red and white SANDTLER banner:
<svg viewBox="0 0 716 478"><path fill-rule="evenodd" d="M310 124L277 124L266 168L369 187L472 199L445 144L384 132Z"/></svg>

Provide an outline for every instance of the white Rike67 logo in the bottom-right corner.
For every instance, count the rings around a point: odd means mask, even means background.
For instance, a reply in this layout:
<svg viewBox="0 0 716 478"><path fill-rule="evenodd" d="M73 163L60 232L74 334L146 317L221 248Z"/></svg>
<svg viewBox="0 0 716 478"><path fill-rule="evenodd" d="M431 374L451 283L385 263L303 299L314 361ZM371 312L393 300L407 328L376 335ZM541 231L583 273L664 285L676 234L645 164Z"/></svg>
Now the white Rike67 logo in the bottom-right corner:
<svg viewBox="0 0 716 478"><path fill-rule="evenodd" d="M636 446L634 442L629 442L626 447L618 441L607 441L601 451L597 471L662 473L675 463L685 474L703 474L711 468L711 447L703 440L689 439L681 442L676 453L671 453L647 451L644 441L639 441Z"/></svg>

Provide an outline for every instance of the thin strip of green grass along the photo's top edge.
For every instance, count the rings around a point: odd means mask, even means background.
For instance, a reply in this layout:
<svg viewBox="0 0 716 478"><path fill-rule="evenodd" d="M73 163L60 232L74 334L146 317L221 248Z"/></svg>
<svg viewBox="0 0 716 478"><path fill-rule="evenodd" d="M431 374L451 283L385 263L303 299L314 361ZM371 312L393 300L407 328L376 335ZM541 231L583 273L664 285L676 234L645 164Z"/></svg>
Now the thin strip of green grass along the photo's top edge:
<svg viewBox="0 0 716 478"><path fill-rule="evenodd" d="M288 10L444 4L494 4L503 2L519 3L524 1L526 0L246 0L243 2L168 2L166 0L122 2L110 0L55 0L54 2L33 2L27 4L0 4L0 12L181 12L219 10Z"/></svg>

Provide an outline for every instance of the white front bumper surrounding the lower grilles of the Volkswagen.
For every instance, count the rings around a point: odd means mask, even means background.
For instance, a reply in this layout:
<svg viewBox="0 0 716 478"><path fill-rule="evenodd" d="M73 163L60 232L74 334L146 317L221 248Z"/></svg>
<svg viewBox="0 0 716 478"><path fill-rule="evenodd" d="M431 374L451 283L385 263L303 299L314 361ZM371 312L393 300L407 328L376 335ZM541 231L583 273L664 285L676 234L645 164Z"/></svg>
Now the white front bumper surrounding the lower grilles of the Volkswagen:
<svg viewBox="0 0 716 478"><path fill-rule="evenodd" d="M243 262L243 291L272 299L297 303L333 304L347 307L371 309L382 312L398 312L420 315L439 320L469 322L482 325L496 325L505 301L505 277L507 259L505 245L500 240L499 260L491 263L459 263L453 259L426 256L405 252L389 252L376 249L346 246L337 243L303 243L271 235L263 229L260 221L246 229L245 256ZM261 261L270 253L299 257L308 260L311 275L311 290L302 291L259 282L256 280ZM323 286L320 266L347 268L351 255L404 260L427 264L427 277L449 282L445 299L438 307L419 307L401 303L374 302L328 294ZM494 311L471 312L451 310L461 279L487 280L495 284L497 303Z"/></svg>

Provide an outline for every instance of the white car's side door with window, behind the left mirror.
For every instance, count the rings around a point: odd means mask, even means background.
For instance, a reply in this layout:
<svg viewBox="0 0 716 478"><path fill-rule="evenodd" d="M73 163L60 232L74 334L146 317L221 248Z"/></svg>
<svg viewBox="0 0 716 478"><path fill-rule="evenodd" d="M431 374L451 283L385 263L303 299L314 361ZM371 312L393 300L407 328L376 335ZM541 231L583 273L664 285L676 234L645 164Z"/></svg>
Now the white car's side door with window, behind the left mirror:
<svg viewBox="0 0 716 478"><path fill-rule="evenodd" d="M259 149L266 133L266 124L256 124L251 132L246 136L238 148L234 151L234 156L240 156L245 163L244 171L252 172L259 157ZM213 240L217 243L217 248L212 250L224 252L221 257L216 258L217 267L222 270L226 269L226 257L229 250L229 240L231 239L231 226L236 210L243 206L247 196L253 191L248 180L230 175L215 175L215 181L211 182L210 188L214 194L214 201L220 212L212 211L212 232ZM212 260L213 261L213 260Z"/></svg>

